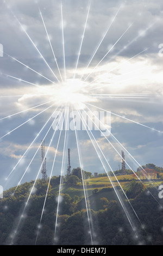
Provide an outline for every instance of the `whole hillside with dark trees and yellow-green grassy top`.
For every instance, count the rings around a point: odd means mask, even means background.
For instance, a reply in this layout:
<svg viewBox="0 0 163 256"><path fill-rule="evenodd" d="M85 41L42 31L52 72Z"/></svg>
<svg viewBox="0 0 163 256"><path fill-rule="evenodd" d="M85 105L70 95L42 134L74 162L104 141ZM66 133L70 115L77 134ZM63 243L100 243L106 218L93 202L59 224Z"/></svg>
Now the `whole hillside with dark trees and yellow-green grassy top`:
<svg viewBox="0 0 163 256"><path fill-rule="evenodd" d="M52 245L54 243L53 237L59 193L59 184L55 182L57 179L52 179L53 182L49 186L47 197L48 182L43 180L36 181L35 189L30 195L29 204L23 215L24 205L27 202L34 181L24 183L18 186L16 190L15 188L10 188L4 191L4 198L0 200L0 245L10 244L13 231L17 230L17 227L18 233L14 231L14 234L16 234L14 244L34 245L44 204L45 210L41 219L42 228L39 232L37 244ZM155 182L159 185L161 180L153 181L151 184L147 180L143 180L143 182L137 181L132 175L118 176L118 180L123 190L126 191L131 204L133 204L134 210L139 213L140 220L142 223L147 224L147 233L149 235L153 234L154 243L163 243L161 231L158 231L159 227L163 227L162 212L158 207L158 200L154 199L158 197L156 186L154 187ZM137 229L142 233L140 223L137 222L115 177L112 177L112 182L114 182L116 192L125 208L131 214L134 225L137 225ZM154 196L149 194L147 197L147 187L151 187L150 190ZM75 186L66 183L62 184L60 192L62 200L59 204L57 230L61 245L90 244L86 203L91 216L91 228L98 234L99 244L138 244L137 241L133 240L133 230L131 230L108 177L85 180L86 198L84 197L83 185L80 183ZM21 223L21 225L17 226L18 223ZM123 230L121 233L118 231L120 228ZM96 234L93 240L97 239ZM146 244L151 243L144 233L140 235L140 241L144 241Z"/></svg>

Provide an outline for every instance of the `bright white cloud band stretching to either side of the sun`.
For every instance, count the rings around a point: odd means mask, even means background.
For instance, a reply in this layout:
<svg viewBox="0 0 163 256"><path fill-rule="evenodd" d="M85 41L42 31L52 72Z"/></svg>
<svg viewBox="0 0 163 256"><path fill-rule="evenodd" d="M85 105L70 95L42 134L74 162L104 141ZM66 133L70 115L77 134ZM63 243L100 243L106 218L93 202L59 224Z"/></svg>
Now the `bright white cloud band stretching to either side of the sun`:
<svg viewBox="0 0 163 256"><path fill-rule="evenodd" d="M105 64L97 69L93 74L92 80L97 80L98 83L88 84L88 86L85 87L85 93L87 95L106 95L103 99L94 97L92 100L97 101L97 106L122 115L122 117L126 116L127 118L140 123L148 123L149 121L155 123L158 120L161 121L162 111L160 106L162 105L162 98L160 96L163 94L163 90L161 82L162 63L160 63L160 57L153 58L152 56L151 58L149 55L148 57L137 57L131 62L127 62L127 60L128 59L124 57L117 57L116 62ZM158 64L156 64L157 62ZM114 72L107 72L111 69L115 69ZM12 112L10 113L13 113L14 109L16 113L34 107L36 104L39 105L43 102L51 101L54 98L54 104L58 106L59 103L56 99L56 93L54 92L52 92L51 87L47 86L42 86L40 88L31 86L16 88L14 94L23 96L15 97L14 99L11 97L2 99L3 101L1 102L8 102L8 104L4 105L4 113L5 111L9 111L11 104ZM49 95L46 95L48 93ZM2 95L7 96L12 94L12 88L2 89ZM30 96L30 94L33 96ZM36 96L37 94L38 96ZM53 94L55 96L53 96ZM110 94L115 94L115 96L120 97L120 99L107 99L107 95ZM143 99L143 94L145 94L145 96L147 95L149 98ZM158 98L155 98L155 96ZM126 97L128 97L128 99L126 99ZM135 97L135 99L133 99L133 97ZM136 99L137 97L140 97L140 99ZM88 99L88 102L90 102L90 99ZM143 103L145 103L147 107L142 109ZM160 104L160 106L158 106L158 104ZM30 111L41 111L41 109L43 110L46 107L47 105L43 105L42 107L31 109ZM127 120L112 117L112 122L114 121Z"/></svg>

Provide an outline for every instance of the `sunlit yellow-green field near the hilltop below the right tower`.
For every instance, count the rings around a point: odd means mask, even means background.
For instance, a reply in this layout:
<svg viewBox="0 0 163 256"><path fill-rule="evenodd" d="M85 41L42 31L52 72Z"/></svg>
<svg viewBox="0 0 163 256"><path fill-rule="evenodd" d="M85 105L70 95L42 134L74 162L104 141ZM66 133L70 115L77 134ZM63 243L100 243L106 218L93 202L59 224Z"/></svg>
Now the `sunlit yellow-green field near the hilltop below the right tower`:
<svg viewBox="0 0 163 256"><path fill-rule="evenodd" d="M116 179L117 178L117 179ZM92 179L87 179L84 180L84 188L85 188L85 195L87 197L87 200L90 202L90 207L93 210L99 210L102 209L102 202L101 198L106 198L109 201L110 200L117 200L116 193L114 191L114 187L118 191L118 193L121 194L121 197L123 197L123 190L127 190L127 188L130 185L130 182L132 180L139 181L139 179L134 178L133 175L119 175L117 177L113 176L110 178L111 182L108 178L106 177L99 177L99 178L92 178ZM153 181L148 181L148 180L141 180L143 182L143 185L145 187L148 186L159 186L162 184L161 180L153 180ZM139 182L141 182L139 181ZM122 187L122 188L121 188ZM78 184L76 186L73 185L68 185L68 184L62 184L61 186L61 194L69 194L72 198L74 196L78 197L83 197L83 205L84 205L84 188L83 184ZM97 193L93 193L94 190L98 190ZM52 188L51 193L58 193L59 192L59 186ZM82 208L82 206L81 206Z"/></svg>

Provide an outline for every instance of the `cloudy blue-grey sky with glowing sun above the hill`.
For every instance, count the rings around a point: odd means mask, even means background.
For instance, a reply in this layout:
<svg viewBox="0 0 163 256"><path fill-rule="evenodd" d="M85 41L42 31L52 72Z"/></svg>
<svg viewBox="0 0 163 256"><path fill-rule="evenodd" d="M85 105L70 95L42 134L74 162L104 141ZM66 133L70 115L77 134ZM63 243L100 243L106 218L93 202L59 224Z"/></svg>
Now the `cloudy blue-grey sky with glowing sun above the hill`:
<svg viewBox="0 0 163 256"><path fill-rule="evenodd" d="M119 169L122 150L134 171L163 166L162 15L161 0L1 1L4 188L41 178L42 139L48 176L66 174L68 148L72 169L81 164L92 174ZM100 120L110 132L54 134L56 113L67 106L71 121L71 107L108 113L109 123Z"/></svg>

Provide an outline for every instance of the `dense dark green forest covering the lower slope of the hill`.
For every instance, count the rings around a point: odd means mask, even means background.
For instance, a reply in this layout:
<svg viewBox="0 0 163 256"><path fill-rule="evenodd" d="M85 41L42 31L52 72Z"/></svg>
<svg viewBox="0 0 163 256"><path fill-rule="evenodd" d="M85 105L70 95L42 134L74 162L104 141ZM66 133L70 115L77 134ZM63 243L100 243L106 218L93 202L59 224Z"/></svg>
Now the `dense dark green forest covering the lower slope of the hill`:
<svg viewBox="0 0 163 256"><path fill-rule="evenodd" d="M130 181L125 191L129 201L119 189L114 200L104 197L116 194L113 188L92 189L91 196L87 197L89 209L83 194L61 193L57 215L55 188L59 180L59 176L52 177L48 193L48 181L43 180L37 180L32 193L34 181L4 192L0 200L0 245L91 245L91 237L94 245L163 244L163 199L158 197L157 186L145 187L139 181ZM72 182L75 191L74 181L67 182ZM29 193L30 199L23 211ZM100 198L100 204L98 210L93 210L90 205L96 204L96 198ZM54 241L56 218L57 239Z"/></svg>

